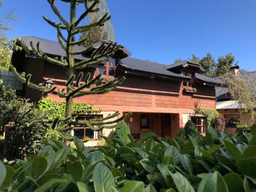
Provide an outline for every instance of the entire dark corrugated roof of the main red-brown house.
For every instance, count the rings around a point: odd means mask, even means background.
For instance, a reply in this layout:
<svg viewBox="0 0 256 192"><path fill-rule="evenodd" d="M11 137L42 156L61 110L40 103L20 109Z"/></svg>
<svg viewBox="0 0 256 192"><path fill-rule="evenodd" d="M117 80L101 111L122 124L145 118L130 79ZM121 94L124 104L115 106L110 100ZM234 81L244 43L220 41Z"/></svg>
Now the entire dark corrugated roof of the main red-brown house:
<svg viewBox="0 0 256 192"><path fill-rule="evenodd" d="M28 36L28 37L22 37L21 41L21 46L25 49L25 45L30 48L30 42L33 41L34 47L36 47L37 42L40 42L40 49L42 52L49 54L51 56L66 56L66 52L62 49L58 41L53 41L53 40L48 40L48 39L43 39L39 37L34 37L34 36ZM108 41L110 42L110 41ZM108 44L108 42L106 42ZM95 48L99 47L102 44L102 42L97 42L96 44L93 44ZM75 51L82 51L86 48L80 47L80 46L75 46ZM131 52L129 52L127 49L124 47L121 48L121 50L125 51L128 55L131 55ZM25 49L25 51L28 50ZM87 59L88 56L86 55L75 55L75 59L78 60L84 60ZM126 57L121 59L120 65L126 68L127 71L129 72L134 72L134 73L140 73L140 74L145 74L145 75L153 75L153 76L158 76L158 77L164 77L164 78L175 78L175 79L186 79L190 80L191 78L186 77L182 74L174 73L171 71L168 71L167 69L173 68L175 66L185 66L186 63L189 63L194 66L200 67L202 70L203 68L196 62L190 61L190 60L185 60L179 63L174 63L173 65L163 65L155 62L150 62L150 61L145 61L145 60L140 60L140 59L135 59L131 57ZM210 83L218 83L215 79L205 77L200 74L196 74L196 78L199 78L202 81L205 82L210 82Z"/></svg>

